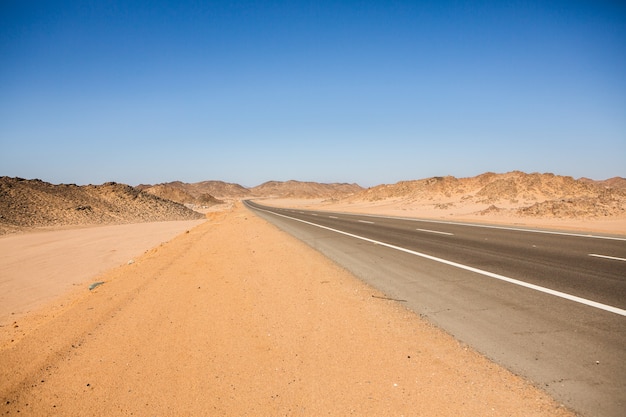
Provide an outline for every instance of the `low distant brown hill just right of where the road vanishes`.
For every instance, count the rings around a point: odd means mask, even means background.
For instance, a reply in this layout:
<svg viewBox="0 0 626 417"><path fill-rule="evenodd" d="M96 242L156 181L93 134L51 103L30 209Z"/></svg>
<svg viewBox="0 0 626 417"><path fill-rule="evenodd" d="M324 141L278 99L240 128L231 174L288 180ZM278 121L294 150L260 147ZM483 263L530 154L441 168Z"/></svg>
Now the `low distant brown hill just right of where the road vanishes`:
<svg viewBox="0 0 626 417"><path fill-rule="evenodd" d="M363 191L358 184L301 181L268 181L250 189L252 195L267 198L341 199Z"/></svg>

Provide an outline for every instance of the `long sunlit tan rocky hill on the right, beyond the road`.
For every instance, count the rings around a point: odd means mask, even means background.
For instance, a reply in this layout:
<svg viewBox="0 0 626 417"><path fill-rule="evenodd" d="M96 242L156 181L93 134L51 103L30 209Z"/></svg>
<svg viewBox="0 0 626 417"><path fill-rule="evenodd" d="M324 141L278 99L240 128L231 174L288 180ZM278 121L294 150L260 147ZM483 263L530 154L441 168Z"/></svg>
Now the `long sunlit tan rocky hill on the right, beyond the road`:
<svg viewBox="0 0 626 417"><path fill-rule="evenodd" d="M379 185L350 197L348 201L395 200L403 204L430 204L441 209L474 205L482 214L507 211L533 217L614 217L626 215L624 182L623 178L575 180L550 173L513 171Z"/></svg>

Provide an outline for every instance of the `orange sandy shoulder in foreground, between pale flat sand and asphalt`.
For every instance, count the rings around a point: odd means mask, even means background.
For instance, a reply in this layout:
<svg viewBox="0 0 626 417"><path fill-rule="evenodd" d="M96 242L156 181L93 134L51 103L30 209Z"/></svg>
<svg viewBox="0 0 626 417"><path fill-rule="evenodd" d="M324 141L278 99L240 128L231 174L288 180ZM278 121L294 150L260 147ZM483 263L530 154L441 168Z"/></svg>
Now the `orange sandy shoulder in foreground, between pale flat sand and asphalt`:
<svg viewBox="0 0 626 417"><path fill-rule="evenodd" d="M0 414L572 415L241 205L209 217L1 327Z"/></svg>

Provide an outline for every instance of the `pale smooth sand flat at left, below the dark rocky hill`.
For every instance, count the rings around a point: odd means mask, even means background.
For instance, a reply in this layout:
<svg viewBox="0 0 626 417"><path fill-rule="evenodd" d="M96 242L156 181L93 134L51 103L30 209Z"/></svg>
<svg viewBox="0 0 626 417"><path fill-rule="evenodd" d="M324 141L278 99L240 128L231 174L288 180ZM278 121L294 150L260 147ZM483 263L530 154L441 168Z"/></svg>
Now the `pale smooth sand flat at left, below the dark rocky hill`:
<svg viewBox="0 0 626 417"><path fill-rule="evenodd" d="M202 222L66 228L0 237L0 326L89 285L98 274L132 262Z"/></svg>

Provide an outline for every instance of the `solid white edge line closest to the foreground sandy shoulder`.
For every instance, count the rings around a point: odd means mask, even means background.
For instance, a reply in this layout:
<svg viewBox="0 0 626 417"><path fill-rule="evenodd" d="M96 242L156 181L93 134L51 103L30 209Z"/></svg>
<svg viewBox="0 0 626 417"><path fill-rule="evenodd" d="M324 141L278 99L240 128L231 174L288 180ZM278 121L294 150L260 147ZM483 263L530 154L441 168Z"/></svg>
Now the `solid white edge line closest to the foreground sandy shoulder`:
<svg viewBox="0 0 626 417"><path fill-rule="evenodd" d="M416 252L416 251L413 251L413 250L410 250L410 249L403 248L401 246L391 245L389 243L380 242L378 240L370 239L370 238L367 238L367 237L364 237L364 236L359 236L359 235L355 235L355 234L352 234L352 233L344 232L342 230L333 229L331 227L322 226L321 224L315 224L315 223L308 222L306 220L296 219L295 217L285 216L284 214L274 213L272 211L264 210L264 209L257 209L257 210L262 210L262 211L274 214L276 216L285 217L285 218L288 218L288 219L291 219L291 220L295 220L295 221L298 221L298 222L301 222L301 223L305 223L305 224L308 224L308 225L311 225L311 226L319 227L321 229L326 229L326 230L330 230L332 232L336 232L336 233L339 233L339 234L342 234L342 235L345 235L345 236L350 236L350 237L353 237L355 239L360 239L360 240L364 240L366 242L374 243L376 245L385 246L387 248L395 249L395 250L400 251L400 252L409 253L411 255L419 256L421 258L429 259L431 261L440 262L442 264L453 266L455 268L459 268L459 269L463 269L463 270L466 270L466 271L474 272L474 273L477 273L477 274L485 275L485 276L490 277L490 278L495 278L495 279L498 279L498 280L501 280L501 281L505 281L505 282L508 282L508 283L511 283L511 284L519 285L520 287L530 288L531 290L543 292L545 294L554 295L555 297L564 298L566 300L574 301L576 303L584 304L584 305L587 305L587 306L590 306L590 307L595 307L595 308L598 308L600 310L608 311L610 313L615 313L615 314L619 314L620 316L626 317L626 310L622 310L621 308L618 308L618 307L609 306L609 305L606 305L606 304L598 303L596 301L587 300L586 298L577 297L575 295L571 295L571 294L567 294L567 293L564 293L564 292L561 292L561 291L556 291L556 290L552 290L550 288L542 287L540 285L530 284L528 282L520 281L520 280L517 280L517 279L514 279L514 278L505 277L504 275L495 274L495 273L489 272L489 271L484 271L482 269L474 268L472 266L463 265L463 264L460 264L460 263L457 263L457 262L448 261L448 260L442 259L442 258L437 258L436 256L431 256L431 255L427 255L425 253Z"/></svg>

